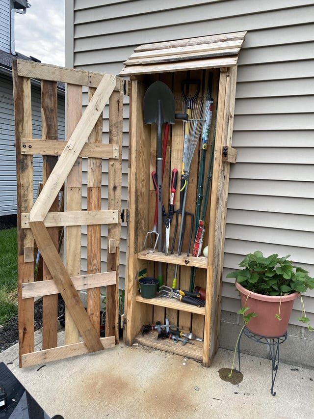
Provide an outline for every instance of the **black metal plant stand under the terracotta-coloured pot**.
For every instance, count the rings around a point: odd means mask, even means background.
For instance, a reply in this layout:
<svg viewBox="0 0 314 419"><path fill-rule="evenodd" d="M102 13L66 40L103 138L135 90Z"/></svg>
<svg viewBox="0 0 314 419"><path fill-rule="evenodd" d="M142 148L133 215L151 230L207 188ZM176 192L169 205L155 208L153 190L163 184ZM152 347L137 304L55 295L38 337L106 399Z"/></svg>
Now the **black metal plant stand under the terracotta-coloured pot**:
<svg viewBox="0 0 314 419"><path fill-rule="evenodd" d="M279 345L283 342L285 342L285 340L287 339L287 332L284 335L281 336L276 336L276 337L266 337L266 336L262 336L262 335L254 335L252 332L250 332L246 326L244 326L240 336L239 336L239 341L237 344L237 355L238 355L238 360L239 360L239 369L235 369L236 372L240 372L241 370L241 366L240 366L240 341L241 341L241 337L242 335L246 335L247 337L249 337L250 339L254 340L255 342L258 343L263 343L268 345L269 347L269 351L271 354L271 362L272 362L272 383L271 383L271 394L273 396L276 395L276 392L274 392L274 383L275 383L275 379L276 379L276 375L277 375L277 371L278 371L278 366L279 366Z"/></svg>

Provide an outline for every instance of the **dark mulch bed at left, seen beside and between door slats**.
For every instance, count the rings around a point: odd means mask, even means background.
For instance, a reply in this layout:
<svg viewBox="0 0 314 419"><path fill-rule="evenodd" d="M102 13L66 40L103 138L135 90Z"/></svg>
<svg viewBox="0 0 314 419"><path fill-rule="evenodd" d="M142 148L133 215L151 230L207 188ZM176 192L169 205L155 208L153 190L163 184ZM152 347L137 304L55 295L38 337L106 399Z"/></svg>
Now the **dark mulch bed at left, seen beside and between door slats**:
<svg viewBox="0 0 314 419"><path fill-rule="evenodd" d="M58 315L64 312L64 302L62 298L58 299ZM34 305L34 330L39 330L42 325L43 301L37 300ZM19 323L18 317L13 317L10 322L3 327L0 332L0 352L5 351L19 341Z"/></svg>

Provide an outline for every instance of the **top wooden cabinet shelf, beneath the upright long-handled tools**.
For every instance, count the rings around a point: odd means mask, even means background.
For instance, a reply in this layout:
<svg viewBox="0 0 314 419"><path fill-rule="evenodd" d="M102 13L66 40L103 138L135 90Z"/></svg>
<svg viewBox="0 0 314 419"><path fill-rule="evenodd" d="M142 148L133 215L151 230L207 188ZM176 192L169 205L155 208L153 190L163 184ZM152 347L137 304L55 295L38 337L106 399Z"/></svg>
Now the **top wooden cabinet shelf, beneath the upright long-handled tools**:
<svg viewBox="0 0 314 419"><path fill-rule="evenodd" d="M208 259L205 256L187 256L186 253L165 255L161 251L145 249L137 253L138 259L152 260L155 262L172 263L173 265L195 266L196 268L207 269Z"/></svg>

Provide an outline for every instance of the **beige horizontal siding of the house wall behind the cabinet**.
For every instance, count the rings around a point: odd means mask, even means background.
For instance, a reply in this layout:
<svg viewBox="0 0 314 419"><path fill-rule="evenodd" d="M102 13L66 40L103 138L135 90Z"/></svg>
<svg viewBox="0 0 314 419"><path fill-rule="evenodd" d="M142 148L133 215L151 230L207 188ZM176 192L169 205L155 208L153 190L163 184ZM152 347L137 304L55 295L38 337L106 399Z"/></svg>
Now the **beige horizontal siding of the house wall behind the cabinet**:
<svg viewBox="0 0 314 419"><path fill-rule="evenodd" d="M74 22L66 28L67 65L110 74L143 43L248 31L237 71L222 309L238 310L225 276L248 252L291 254L314 275L314 2L72 0L66 7ZM121 249L123 260L124 240ZM313 324L313 291L305 304ZM299 302L292 324L301 324L298 310Z"/></svg>

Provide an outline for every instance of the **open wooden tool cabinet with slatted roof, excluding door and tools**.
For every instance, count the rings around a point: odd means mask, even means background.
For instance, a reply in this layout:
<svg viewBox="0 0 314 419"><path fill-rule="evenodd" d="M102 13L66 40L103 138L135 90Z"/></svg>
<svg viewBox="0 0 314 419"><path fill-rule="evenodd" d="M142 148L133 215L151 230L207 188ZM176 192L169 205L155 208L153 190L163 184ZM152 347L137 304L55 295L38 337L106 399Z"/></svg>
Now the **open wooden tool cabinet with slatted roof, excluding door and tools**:
<svg viewBox="0 0 314 419"><path fill-rule="evenodd" d="M219 346L220 304L222 286L222 266L224 250L225 218L229 184L230 164L235 163L236 152L231 147L237 59L246 32L189 38L186 40L142 45L134 50L125 62L120 76L129 76L126 93L130 96L130 138L129 138L129 208L128 208L128 254L126 271L126 330L127 344L140 344L163 351L182 355L201 361L209 366ZM213 100L212 120L208 137L208 148L203 153L205 158L204 185L210 178L210 190L205 214L205 235L203 249L208 246L208 256L193 256L195 220L184 217L185 231L180 254L178 232L174 249L158 251L150 244L150 238L144 242L148 232L153 230L156 210L156 190L151 173L156 171L157 126L145 124L143 117L144 95L151 84L161 81L173 92L176 114L184 113L182 91L188 98L196 97L196 84L200 90L197 100ZM195 84L195 85L194 85ZM194 100L193 99L193 100ZM193 104L192 104L193 105ZM186 116L185 116L186 117ZM164 161L162 182L162 202L168 211L170 200L171 177L173 169L178 170L178 182L175 194L175 214L170 224L170 244L175 235L175 222L180 214L180 179L183 164L183 125L182 119L175 119L170 124ZM162 128L164 137L164 127ZM197 196L200 195L199 177L201 176L201 137L198 141L190 164L188 191L186 193L185 212L195 215ZM214 139L214 141L213 141ZM210 151L213 147L212 168L209 169ZM204 193L205 186L201 190ZM205 196L204 196L205 198ZM204 205L204 198L202 205ZM196 220L198 225L199 220ZM193 239L188 249L189 232ZM155 238L154 238L155 239ZM164 232L158 240L164 243ZM139 293L138 279L142 275L158 277L161 268L162 282L173 287L176 275L176 287L190 289L191 270L195 271L194 284L204 292L205 306L197 307L183 303L175 298L143 298ZM194 287L194 285L193 285ZM192 340L194 344L182 345L169 339L157 339L157 331L142 334L143 325L160 322L177 325L183 333L203 338Z"/></svg>

